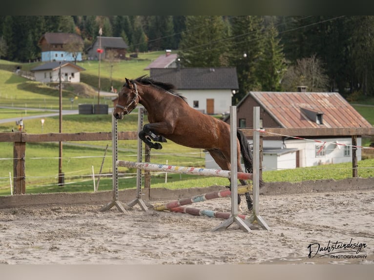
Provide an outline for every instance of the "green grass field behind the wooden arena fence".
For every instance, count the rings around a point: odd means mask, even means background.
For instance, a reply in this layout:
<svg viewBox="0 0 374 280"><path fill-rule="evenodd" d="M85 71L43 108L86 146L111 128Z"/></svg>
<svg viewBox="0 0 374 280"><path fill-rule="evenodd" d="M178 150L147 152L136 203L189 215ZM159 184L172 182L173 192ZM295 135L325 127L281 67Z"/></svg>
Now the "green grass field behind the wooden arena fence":
<svg viewBox="0 0 374 280"><path fill-rule="evenodd" d="M153 52L139 54L138 60L126 60L121 62L101 62L102 89L107 90L111 82L114 87L120 88L126 78L137 78L148 74L144 68L160 54ZM47 86L42 83L26 80L15 75L12 71L16 65L0 60L0 105L10 106L14 109L1 109L0 120L9 118L23 118L26 116L49 114L47 110L59 109L59 90L56 86ZM40 64L40 62L39 62ZM38 63L22 64L22 70L29 70ZM112 66L113 65L113 66ZM98 61L80 62L80 66L86 70L81 73L81 80L93 88L91 96L83 97L77 87L65 87L62 92L63 109L78 109L79 103L97 103L96 89L98 86ZM112 72L110 71L112 70ZM82 88L82 87L81 87ZM76 98L71 103L71 98ZM102 104L111 105L110 99L102 98ZM16 109L16 108L20 109ZM354 105L355 109L374 124L373 108L363 105ZM36 110L32 110L34 108ZM25 132L30 134L59 132L59 117L46 117L42 127L42 118L23 120ZM118 122L118 131L137 130L137 110ZM146 120L145 120L146 122ZM0 132L10 132L16 128L14 121L0 123ZM110 132L110 115L66 115L62 118L62 132ZM364 139L363 144L369 145L373 139ZM112 163L111 141L77 141L63 143L62 172L65 176L65 186L57 185L58 174L58 143L27 143L26 144L26 193L47 192L82 192L93 191L92 167L95 174L99 173L103 162L106 145L109 149L103 166L103 174L110 174ZM152 150L151 162L166 163L179 166L204 167L205 154L200 149L191 149L177 145L173 142L163 144L160 151ZM118 143L119 160L136 160L137 141L126 140ZM0 195L10 194L9 173L13 174L13 143L0 143ZM361 160L358 163L359 177L374 176L374 159ZM120 189L135 187L135 170L120 168ZM309 168L297 168L292 170L266 171L263 173L265 181L290 181L334 179L341 180L352 177L352 163L332 164ZM96 178L97 180L97 178ZM227 185L228 180L223 178L200 178L179 174L168 174L165 183L165 174L152 177L153 187L188 188L194 186ZM100 190L110 190L112 180L103 177L100 181Z"/></svg>

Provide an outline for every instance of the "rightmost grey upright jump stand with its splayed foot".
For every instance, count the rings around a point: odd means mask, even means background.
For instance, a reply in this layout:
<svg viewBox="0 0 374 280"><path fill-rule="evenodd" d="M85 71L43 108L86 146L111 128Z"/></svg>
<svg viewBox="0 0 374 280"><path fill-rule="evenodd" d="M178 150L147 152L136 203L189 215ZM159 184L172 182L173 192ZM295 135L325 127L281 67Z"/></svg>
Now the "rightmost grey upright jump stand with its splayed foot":
<svg viewBox="0 0 374 280"><path fill-rule="evenodd" d="M253 107L253 208L250 222L255 222L270 230L268 222L259 215L260 195L260 107Z"/></svg>

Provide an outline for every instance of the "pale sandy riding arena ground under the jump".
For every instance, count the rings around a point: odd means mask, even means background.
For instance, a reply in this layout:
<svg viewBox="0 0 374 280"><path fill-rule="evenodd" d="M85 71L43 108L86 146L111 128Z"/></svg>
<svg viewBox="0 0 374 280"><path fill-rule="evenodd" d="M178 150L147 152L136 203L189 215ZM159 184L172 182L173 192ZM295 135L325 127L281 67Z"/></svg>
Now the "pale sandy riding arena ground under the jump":
<svg viewBox="0 0 374 280"><path fill-rule="evenodd" d="M374 263L374 190L260 196L271 229L249 233L212 232L224 220L206 216L103 206L0 209L0 264ZM230 199L193 206L230 212Z"/></svg>

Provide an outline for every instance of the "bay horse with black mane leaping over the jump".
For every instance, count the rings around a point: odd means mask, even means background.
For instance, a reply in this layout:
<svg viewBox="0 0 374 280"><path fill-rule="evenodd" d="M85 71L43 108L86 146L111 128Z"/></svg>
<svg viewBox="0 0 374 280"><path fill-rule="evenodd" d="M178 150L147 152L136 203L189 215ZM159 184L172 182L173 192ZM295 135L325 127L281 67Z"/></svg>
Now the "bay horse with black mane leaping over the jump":
<svg viewBox="0 0 374 280"><path fill-rule="evenodd" d="M135 80L125 78L125 84L118 94L118 101L113 110L117 120L138 105L147 110L149 123L139 132L139 138L150 148L162 149L160 142L166 139L177 144L207 150L222 170L230 170L230 125L200 111L193 109L176 88L164 83L139 77ZM242 131L237 130L238 172L243 172L240 155L242 155L246 172L252 173L252 155L248 141ZM152 140L154 142L152 142ZM229 179L230 180L230 179ZM246 185L246 180L240 180ZM245 194L248 210L252 209L249 193ZM240 208L240 195L238 205Z"/></svg>

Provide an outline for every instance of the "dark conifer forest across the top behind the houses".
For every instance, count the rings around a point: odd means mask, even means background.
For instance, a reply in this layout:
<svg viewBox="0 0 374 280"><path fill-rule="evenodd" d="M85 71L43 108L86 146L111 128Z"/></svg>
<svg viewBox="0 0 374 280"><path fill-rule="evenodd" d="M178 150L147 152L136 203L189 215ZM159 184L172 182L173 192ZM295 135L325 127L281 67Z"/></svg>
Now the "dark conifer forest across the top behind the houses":
<svg viewBox="0 0 374 280"><path fill-rule="evenodd" d="M128 53L172 49L182 67L235 66L239 91L337 91L374 96L374 16L0 16L0 59L39 60L46 32L99 36Z"/></svg>

